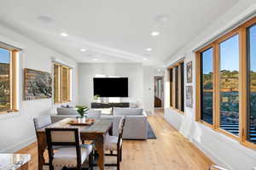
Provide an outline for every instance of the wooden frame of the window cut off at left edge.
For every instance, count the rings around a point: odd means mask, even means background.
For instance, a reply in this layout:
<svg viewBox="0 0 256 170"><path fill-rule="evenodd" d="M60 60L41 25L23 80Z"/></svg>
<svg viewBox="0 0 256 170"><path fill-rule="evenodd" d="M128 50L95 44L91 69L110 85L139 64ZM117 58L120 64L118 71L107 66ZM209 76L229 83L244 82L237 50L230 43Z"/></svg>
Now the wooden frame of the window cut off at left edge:
<svg viewBox="0 0 256 170"><path fill-rule="evenodd" d="M0 45L0 48L9 50L10 52L10 69L9 69L9 83L10 83L10 109L8 111L0 111L0 114L6 114L10 112L17 112L17 57L19 50L9 48L8 46Z"/></svg>

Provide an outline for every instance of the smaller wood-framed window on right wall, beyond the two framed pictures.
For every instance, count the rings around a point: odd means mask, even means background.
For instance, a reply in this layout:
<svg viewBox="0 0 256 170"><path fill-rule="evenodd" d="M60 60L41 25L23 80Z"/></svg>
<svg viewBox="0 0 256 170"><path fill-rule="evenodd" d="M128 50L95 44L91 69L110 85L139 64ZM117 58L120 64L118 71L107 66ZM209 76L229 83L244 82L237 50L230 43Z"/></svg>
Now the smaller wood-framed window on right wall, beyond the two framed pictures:
<svg viewBox="0 0 256 170"><path fill-rule="evenodd" d="M180 112L184 111L184 65L183 61L169 68L170 71L170 106Z"/></svg>

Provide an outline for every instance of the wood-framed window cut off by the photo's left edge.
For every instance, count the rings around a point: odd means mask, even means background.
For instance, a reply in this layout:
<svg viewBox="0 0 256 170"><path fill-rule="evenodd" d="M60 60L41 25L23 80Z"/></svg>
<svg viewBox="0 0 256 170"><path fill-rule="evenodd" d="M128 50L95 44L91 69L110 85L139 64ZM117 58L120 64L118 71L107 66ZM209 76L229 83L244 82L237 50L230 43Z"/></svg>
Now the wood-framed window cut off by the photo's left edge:
<svg viewBox="0 0 256 170"><path fill-rule="evenodd" d="M18 51L0 47L0 113L17 111L16 58Z"/></svg>

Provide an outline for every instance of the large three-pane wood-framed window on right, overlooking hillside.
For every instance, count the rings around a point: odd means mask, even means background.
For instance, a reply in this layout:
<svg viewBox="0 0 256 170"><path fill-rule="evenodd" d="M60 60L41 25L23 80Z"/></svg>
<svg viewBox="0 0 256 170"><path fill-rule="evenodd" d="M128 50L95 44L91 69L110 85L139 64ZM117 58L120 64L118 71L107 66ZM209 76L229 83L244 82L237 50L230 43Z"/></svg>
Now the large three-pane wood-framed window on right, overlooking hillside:
<svg viewBox="0 0 256 170"><path fill-rule="evenodd" d="M196 121L256 149L256 17L196 52Z"/></svg>

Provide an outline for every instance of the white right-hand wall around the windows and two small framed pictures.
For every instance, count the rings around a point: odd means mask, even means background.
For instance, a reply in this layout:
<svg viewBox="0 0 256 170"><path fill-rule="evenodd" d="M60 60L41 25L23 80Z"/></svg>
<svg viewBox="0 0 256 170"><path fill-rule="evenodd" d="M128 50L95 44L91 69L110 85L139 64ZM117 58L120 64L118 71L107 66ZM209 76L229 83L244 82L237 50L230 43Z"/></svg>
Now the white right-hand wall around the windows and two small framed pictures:
<svg viewBox="0 0 256 170"><path fill-rule="evenodd" d="M252 170L256 167L256 150L248 149L239 144L238 141L230 139L222 133L217 133L209 127L195 122L195 54L193 50L198 48L201 44L211 40L212 37L218 35L229 26L232 26L236 21L241 20L248 14L255 12L256 4L253 0L240 1L226 14L219 18L212 26L195 40L189 42L183 49L177 52L168 63L172 65L177 59L185 55L185 63L190 60L193 61L193 92L194 92L194 106L193 109L185 107L185 114L181 115L177 111L169 108L170 105L170 83L169 72L166 71L166 102L165 102L165 117L172 126L182 133L186 138L201 149L212 161L228 167L233 170ZM185 74L186 76L186 74ZM186 77L184 77L186 80ZM186 81L185 81L186 82ZM191 85L185 83L185 85Z"/></svg>

